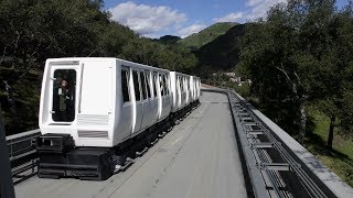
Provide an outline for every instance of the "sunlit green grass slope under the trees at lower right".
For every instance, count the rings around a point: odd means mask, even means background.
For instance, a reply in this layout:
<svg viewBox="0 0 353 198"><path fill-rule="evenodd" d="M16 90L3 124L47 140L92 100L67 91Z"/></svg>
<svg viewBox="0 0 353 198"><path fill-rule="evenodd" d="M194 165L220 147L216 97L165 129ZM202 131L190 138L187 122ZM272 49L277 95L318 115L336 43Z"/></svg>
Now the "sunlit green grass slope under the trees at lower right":
<svg viewBox="0 0 353 198"><path fill-rule="evenodd" d="M353 187L353 139L343 138L334 131L333 150L327 147L330 120L323 113L309 110L314 128L308 134L306 147L314 154L319 161L332 169L339 177Z"/></svg>

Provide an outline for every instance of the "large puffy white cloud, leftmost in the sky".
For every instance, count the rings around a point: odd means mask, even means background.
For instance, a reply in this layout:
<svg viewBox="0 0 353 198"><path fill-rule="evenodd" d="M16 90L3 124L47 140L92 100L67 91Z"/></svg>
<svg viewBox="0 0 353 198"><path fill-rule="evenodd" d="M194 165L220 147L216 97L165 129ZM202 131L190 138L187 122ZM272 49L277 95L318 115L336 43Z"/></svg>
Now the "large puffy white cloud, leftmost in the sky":
<svg viewBox="0 0 353 198"><path fill-rule="evenodd" d="M111 19L129 26L141 35L154 35L154 33L178 28L186 15L169 7L151 7L136 4L132 1L120 3L109 9Z"/></svg>

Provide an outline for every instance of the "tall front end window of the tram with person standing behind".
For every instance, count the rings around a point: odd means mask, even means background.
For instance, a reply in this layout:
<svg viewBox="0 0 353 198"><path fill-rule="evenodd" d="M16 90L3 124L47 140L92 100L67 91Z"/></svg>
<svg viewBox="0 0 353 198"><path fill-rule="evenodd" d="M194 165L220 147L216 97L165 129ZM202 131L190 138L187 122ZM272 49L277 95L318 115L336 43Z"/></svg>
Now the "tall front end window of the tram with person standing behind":
<svg viewBox="0 0 353 198"><path fill-rule="evenodd" d="M75 120L76 70L56 69L53 81L52 119L55 122Z"/></svg>

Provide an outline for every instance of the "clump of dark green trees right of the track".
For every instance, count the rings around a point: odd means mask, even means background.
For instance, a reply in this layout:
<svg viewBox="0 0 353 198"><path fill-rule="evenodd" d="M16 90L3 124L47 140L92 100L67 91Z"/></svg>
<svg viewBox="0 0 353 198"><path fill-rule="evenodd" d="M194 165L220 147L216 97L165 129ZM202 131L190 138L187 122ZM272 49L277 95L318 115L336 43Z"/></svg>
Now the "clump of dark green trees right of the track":
<svg viewBox="0 0 353 198"><path fill-rule="evenodd" d="M352 72L345 69L352 63L351 4L342 13L333 0L277 4L267 21L248 25L243 38L242 65L250 72L252 91L275 110L275 121L287 128L290 120L297 121L300 142L306 136L308 103L320 103L331 120L329 146L336 118L343 120L342 98L352 90L346 86Z"/></svg>

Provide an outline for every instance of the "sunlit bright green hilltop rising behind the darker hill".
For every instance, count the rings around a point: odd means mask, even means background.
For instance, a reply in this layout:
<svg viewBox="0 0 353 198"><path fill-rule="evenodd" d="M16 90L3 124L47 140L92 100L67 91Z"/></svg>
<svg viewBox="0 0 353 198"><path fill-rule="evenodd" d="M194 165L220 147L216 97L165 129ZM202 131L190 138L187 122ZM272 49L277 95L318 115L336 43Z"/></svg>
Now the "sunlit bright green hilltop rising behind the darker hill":
<svg viewBox="0 0 353 198"><path fill-rule="evenodd" d="M199 33L191 34L188 37L180 40L179 42L190 48L197 50L220 35L223 35L236 24L237 23L233 22L215 23Z"/></svg>

